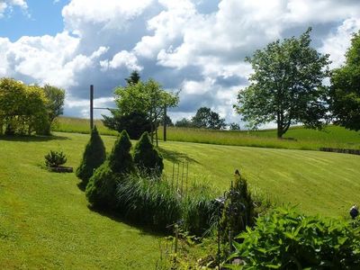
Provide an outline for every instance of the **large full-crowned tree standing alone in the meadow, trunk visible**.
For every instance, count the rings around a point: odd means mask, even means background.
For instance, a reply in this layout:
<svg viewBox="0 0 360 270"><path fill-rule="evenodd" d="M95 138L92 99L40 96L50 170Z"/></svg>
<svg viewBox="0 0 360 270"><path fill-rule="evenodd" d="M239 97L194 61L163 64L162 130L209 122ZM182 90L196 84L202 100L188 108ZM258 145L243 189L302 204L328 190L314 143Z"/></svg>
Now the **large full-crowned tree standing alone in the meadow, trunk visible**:
<svg viewBox="0 0 360 270"><path fill-rule="evenodd" d="M275 121L282 138L292 124L321 129L327 119L329 55L310 47L311 28L296 39L276 40L246 58L254 73L234 105L252 128Z"/></svg>

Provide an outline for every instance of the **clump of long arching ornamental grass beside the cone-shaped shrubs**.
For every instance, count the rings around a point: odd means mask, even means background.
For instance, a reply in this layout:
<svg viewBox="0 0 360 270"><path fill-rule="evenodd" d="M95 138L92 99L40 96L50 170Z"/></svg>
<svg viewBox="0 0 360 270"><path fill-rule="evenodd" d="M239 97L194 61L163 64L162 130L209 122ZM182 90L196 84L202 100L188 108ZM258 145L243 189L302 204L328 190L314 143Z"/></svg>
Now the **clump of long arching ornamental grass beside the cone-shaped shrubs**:
<svg viewBox="0 0 360 270"><path fill-rule="evenodd" d="M181 201L166 181L130 175L117 188L118 205L127 219L157 230L181 218Z"/></svg>

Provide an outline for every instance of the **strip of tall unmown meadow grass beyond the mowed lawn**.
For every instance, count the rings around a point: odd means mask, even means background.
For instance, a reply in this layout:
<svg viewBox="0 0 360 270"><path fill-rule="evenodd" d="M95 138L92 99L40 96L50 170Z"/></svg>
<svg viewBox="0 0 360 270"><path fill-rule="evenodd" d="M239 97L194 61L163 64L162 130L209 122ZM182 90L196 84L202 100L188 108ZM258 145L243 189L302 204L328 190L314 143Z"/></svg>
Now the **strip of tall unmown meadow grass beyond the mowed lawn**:
<svg viewBox="0 0 360 270"><path fill-rule="evenodd" d="M116 135L117 132L103 126L101 120L95 124L103 135ZM89 133L89 120L60 117L55 131ZM163 139L162 127L158 130L159 139ZM325 130L307 130L293 127L284 135L276 138L276 130L230 131L199 130L169 127L167 139L174 141L199 142L217 145L247 146L257 148L288 148L319 150L320 148L360 148L360 132L346 130L330 125Z"/></svg>

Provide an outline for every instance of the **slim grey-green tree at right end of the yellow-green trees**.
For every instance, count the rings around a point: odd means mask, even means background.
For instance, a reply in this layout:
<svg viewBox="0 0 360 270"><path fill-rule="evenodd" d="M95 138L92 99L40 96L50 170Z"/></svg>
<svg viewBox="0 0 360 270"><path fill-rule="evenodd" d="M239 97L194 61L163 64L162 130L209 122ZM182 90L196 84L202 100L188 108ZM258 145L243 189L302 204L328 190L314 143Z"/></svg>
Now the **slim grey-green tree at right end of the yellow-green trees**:
<svg viewBox="0 0 360 270"><path fill-rule="evenodd" d="M45 135L49 135L51 124L59 115L63 113L65 90L51 85L44 85L42 89L48 100L46 106L49 113L48 125L43 130L43 133Z"/></svg>

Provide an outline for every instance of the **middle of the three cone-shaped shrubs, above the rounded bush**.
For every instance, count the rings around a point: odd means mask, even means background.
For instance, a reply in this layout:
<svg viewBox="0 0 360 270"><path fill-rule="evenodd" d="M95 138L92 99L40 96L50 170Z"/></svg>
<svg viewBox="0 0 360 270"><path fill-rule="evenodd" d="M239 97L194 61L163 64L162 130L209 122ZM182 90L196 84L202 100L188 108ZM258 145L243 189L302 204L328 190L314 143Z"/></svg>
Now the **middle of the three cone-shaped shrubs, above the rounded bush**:
<svg viewBox="0 0 360 270"><path fill-rule="evenodd" d="M109 156L109 166L116 174L129 174L134 170L134 162L130 154L131 142L126 130L122 130L120 138L115 141Z"/></svg>

